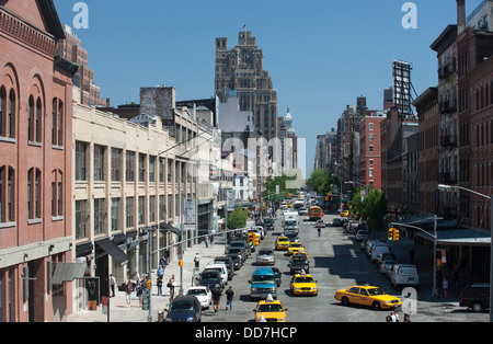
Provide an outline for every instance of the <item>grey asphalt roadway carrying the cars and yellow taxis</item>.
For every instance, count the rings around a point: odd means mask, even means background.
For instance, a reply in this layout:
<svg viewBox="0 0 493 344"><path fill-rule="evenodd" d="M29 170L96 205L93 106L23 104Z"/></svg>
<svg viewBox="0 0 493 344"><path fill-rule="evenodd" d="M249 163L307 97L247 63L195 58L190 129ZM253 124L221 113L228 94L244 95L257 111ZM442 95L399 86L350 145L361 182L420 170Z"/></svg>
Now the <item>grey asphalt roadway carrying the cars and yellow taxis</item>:
<svg viewBox="0 0 493 344"><path fill-rule="evenodd" d="M332 222L333 215L325 215L324 221ZM261 246L274 246L275 238L282 233L280 220L277 220L274 231L261 241ZM359 306L342 306L334 299L335 290L347 288L356 284L370 284L382 288L386 293L401 297L400 290L394 290L390 282L381 276L377 267L369 262L360 251L359 242L354 236L347 234L341 227L326 227L322 229L321 238L317 236L313 222L301 217L299 232L300 241L310 255L310 274L318 280L319 295L317 297L293 296L289 290L288 262L289 257L284 251L276 251L276 266L283 272L278 299L288 308L288 322L382 322L389 313L387 310L375 311ZM400 251L403 252L402 248ZM399 256L399 254L398 254ZM226 297L221 299L220 311L203 312L204 322L243 322L253 321L253 309L256 301L250 300L250 284L248 280L255 270L255 253L253 253L237 272L229 283L236 295L232 311L225 311ZM427 278L424 273L420 275L424 284L419 293L417 313L412 314L412 321L488 321L488 313L475 314L460 308L458 299L448 301L431 300L427 294ZM309 310L309 311L307 311Z"/></svg>

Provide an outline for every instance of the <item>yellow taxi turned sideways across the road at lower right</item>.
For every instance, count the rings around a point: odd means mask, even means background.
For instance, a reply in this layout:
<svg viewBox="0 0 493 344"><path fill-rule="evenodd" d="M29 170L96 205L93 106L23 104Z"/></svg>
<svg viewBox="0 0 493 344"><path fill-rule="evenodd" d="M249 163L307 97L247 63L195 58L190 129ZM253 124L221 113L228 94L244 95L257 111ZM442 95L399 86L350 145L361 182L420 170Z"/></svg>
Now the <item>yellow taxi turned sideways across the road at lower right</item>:
<svg viewBox="0 0 493 344"><path fill-rule="evenodd" d="M334 298L345 306L362 305L372 309L393 309L402 306L401 299L386 294L379 287L353 286L335 291Z"/></svg>

